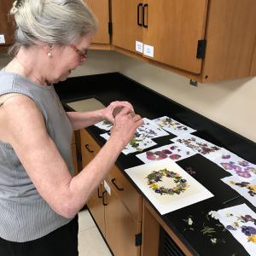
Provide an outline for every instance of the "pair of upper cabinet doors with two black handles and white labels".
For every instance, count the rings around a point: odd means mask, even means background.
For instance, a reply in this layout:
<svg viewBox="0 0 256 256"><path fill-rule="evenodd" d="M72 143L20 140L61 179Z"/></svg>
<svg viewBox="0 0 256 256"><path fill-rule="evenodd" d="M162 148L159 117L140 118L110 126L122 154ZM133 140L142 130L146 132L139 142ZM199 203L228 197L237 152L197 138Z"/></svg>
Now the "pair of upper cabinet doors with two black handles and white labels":
<svg viewBox="0 0 256 256"><path fill-rule="evenodd" d="M113 45L201 73L196 52L204 38L207 0L113 0L112 6Z"/></svg>

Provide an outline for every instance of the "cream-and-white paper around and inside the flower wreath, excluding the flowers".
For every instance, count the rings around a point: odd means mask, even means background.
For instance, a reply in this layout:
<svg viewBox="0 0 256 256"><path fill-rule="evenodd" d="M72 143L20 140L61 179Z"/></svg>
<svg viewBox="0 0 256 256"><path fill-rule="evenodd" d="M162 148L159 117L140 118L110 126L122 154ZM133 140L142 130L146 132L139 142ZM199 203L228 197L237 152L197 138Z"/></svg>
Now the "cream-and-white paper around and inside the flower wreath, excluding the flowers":
<svg viewBox="0 0 256 256"><path fill-rule="evenodd" d="M179 195L176 193L173 195L160 195L156 193L152 187L149 187L147 177L154 171L164 169L177 173L177 177L182 177L189 187ZM195 202L203 201L213 196L209 190L202 186L201 183L197 182L194 177L191 177L180 166L177 166L172 160L154 161L142 166L125 169L125 172L131 177L133 182L137 184L138 188L142 190L143 194L148 197L148 200L153 203L160 214L187 207ZM177 183L174 183L173 178L166 176L162 177L162 181L158 182L157 185L159 188L164 186L172 190L177 189L178 186Z"/></svg>

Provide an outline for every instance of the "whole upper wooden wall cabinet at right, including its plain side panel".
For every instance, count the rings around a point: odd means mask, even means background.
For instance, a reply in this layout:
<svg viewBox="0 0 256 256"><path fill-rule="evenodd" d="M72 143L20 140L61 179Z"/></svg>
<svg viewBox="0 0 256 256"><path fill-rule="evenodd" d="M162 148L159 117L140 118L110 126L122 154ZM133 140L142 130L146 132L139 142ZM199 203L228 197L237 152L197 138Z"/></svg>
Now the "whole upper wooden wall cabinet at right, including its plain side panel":
<svg viewBox="0 0 256 256"><path fill-rule="evenodd" d="M256 1L112 0L113 48L200 82L256 75Z"/></svg>

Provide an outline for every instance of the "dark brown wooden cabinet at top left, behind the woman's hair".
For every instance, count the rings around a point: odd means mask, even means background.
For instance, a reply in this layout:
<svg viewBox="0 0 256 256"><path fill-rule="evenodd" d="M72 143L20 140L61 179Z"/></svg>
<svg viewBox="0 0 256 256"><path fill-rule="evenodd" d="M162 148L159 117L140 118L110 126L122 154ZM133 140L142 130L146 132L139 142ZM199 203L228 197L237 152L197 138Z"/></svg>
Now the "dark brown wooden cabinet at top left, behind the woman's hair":
<svg viewBox="0 0 256 256"><path fill-rule="evenodd" d="M9 45L14 43L15 39L15 26L14 20L9 15L9 10L14 1L3 0L0 3L0 46ZM1 43L4 37L5 43Z"/></svg>

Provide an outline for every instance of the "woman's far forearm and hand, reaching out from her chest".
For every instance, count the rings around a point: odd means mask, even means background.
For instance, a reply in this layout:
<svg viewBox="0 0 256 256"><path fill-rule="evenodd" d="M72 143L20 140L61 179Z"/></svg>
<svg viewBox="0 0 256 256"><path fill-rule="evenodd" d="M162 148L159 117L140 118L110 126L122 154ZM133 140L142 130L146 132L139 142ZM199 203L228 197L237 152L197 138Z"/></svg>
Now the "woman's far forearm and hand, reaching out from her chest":
<svg viewBox="0 0 256 256"><path fill-rule="evenodd" d="M67 112L67 117L73 125L73 131L80 130L90 125L95 125L104 119L113 123L113 118L122 108L133 108L129 102L111 102L107 108L88 112Z"/></svg>

